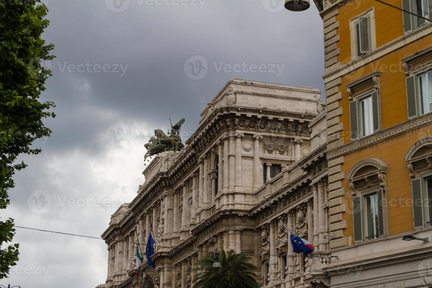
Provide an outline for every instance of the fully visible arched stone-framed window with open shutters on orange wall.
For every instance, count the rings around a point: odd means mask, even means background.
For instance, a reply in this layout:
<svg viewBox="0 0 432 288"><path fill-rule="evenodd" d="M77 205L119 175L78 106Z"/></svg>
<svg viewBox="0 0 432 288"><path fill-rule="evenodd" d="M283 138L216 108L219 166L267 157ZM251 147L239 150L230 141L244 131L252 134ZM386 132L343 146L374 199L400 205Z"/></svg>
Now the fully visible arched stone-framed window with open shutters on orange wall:
<svg viewBox="0 0 432 288"><path fill-rule="evenodd" d="M387 165L380 159L365 159L347 175L353 191L354 242L386 235L385 174Z"/></svg>

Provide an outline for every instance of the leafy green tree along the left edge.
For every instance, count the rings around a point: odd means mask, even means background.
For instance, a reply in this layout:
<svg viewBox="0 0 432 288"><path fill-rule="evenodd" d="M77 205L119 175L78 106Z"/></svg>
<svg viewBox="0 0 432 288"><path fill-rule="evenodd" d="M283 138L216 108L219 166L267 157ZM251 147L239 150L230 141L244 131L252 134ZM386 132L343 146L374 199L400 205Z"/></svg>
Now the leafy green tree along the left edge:
<svg viewBox="0 0 432 288"><path fill-rule="evenodd" d="M40 153L32 142L51 134L42 120L55 117L48 111L55 105L39 101L51 76L41 60L54 58L49 54L54 45L41 38L49 24L47 12L40 0L0 0L0 209L9 204L15 171L26 167L17 163L18 155ZM18 260L18 244L4 245L14 235L12 218L0 222L0 279Z"/></svg>

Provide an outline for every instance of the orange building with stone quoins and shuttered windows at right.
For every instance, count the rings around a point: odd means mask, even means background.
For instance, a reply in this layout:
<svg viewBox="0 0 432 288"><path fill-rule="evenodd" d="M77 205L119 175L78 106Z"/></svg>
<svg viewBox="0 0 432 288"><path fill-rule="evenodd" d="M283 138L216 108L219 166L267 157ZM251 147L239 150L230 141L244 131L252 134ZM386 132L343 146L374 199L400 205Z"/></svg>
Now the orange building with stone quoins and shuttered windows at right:
<svg viewBox="0 0 432 288"><path fill-rule="evenodd" d="M331 287L432 286L432 0L315 2L324 21Z"/></svg>

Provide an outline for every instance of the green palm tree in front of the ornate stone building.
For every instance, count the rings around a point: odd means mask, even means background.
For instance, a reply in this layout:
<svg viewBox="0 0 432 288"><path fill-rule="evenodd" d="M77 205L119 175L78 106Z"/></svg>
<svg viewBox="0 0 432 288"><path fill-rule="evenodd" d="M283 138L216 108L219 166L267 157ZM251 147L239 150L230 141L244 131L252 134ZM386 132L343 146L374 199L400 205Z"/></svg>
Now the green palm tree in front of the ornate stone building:
<svg viewBox="0 0 432 288"><path fill-rule="evenodd" d="M220 268L213 268L216 257L214 253L197 261L197 271L193 282L193 288L259 288L254 270L257 267L249 263L251 257L245 254L234 254L233 250L228 253L219 252Z"/></svg>

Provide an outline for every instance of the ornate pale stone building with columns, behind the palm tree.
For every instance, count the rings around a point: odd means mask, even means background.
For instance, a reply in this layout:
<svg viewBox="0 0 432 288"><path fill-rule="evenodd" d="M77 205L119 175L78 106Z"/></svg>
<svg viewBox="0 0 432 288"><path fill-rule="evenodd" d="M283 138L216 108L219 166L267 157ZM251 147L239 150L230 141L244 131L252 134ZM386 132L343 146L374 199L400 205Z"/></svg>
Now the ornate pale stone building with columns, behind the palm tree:
<svg viewBox="0 0 432 288"><path fill-rule="evenodd" d="M329 287L326 112L310 87L230 80L201 114L181 152L157 155L131 203L102 237L101 287L189 288L208 252L252 257L261 287ZM314 245L292 252L285 222ZM143 245L156 240L153 266ZM136 243L144 263L136 279Z"/></svg>

